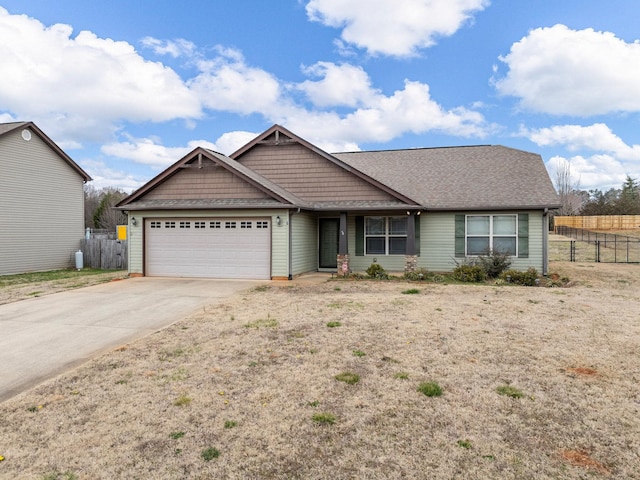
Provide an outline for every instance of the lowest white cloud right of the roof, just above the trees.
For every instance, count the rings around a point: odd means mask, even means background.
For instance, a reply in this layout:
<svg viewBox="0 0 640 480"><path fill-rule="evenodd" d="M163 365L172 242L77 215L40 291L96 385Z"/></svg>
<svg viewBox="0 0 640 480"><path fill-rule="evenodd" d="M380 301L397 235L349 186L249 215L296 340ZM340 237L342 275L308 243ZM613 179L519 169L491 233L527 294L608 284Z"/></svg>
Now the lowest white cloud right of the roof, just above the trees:
<svg viewBox="0 0 640 480"><path fill-rule="evenodd" d="M620 188L630 173L626 165L611 155L577 155L571 158L554 156L547 162L547 169L554 172L558 165L564 163L571 166L571 176L574 180L579 180L581 190L597 188L606 191L609 188Z"/></svg>

